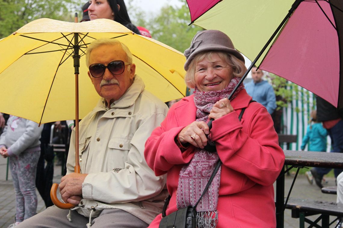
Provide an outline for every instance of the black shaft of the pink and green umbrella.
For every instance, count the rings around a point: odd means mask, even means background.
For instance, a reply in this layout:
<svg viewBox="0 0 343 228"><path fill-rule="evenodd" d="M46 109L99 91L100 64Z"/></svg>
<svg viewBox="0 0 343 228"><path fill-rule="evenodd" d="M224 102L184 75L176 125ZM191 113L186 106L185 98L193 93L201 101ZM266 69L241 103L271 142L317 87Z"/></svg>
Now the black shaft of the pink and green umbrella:
<svg viewBox="0 0 343 228"><path fill-rule="evenodd" d="M238 87L240 86L240 84L243 82L243 80L247 77L248 73L250 72L250 70L252 69L253 66L255 66L256 62L258 61L258 59L261 57L261 55L263 54L263 52L265 51L265 49L267 49L267 47L269 46L269 44L272 42L272 40L274 39L274 37L277 35L277 33L280 31L280 29L282 28L282 26L286 23L286 21L288 20L288 18L292 15L292 13L294 12L294 10L299 6L300 2L303 0L296 0L293 4L291 9L289 9L287 15L285 16L285 18L282 20L282 22L280 23L280 25L276 28L276 30L274 31L273 35L269 38L269 40L267 41L267 43L263 46L262 50L260 51L260 53L258 53L258 55L256 56L256 58L254 59L254 61L252 61L251 65L249 66L249 68L247 69L247 71L244 73L243 77L239 80L239 82L237 83L236 87L234 88L234 90L232 91L232 93L229 95L228 99L230 100L232 98L232 96L234 95L234 93L236 92L236 90L238 89ZM213 119L211 119L208 122L208 126L211 129L212 128L212 121Z"/></svg>

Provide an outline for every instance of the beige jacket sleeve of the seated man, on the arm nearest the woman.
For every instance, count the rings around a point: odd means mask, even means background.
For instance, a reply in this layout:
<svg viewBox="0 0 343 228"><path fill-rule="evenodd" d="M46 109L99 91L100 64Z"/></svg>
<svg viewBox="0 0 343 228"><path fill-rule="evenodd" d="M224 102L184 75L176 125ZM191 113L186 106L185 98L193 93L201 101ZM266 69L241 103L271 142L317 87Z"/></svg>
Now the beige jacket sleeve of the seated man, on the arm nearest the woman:
<svg viewBox="0 0 343 228"><path fill-rule="evenodd" d="M120 172L90 173L82 184L82 197L106 203L141 201L158 195L164 188L165 176L155 176L144 160L144 143L165 114L153 113L135 131L128 160ZM104 183L106 187L104 187Z"/></svg>

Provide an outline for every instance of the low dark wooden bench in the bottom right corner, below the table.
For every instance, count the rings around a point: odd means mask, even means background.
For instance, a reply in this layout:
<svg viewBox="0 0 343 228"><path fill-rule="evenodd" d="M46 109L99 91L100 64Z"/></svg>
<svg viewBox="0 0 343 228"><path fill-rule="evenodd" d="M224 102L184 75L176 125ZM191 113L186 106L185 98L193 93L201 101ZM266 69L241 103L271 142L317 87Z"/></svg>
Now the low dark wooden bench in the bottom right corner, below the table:
<svg viewBox="0 0 343 228"><path fill-rule="evenodd" d="M305 223L310 224L309 227L329 228L343 217L343 204L333 202L289 198L286 209L292 210L292 218L299 218L299 228L305 228ZM319 216L314 221L306 218L311 215ZM337 217L331 223L330 215Z"/></svg>

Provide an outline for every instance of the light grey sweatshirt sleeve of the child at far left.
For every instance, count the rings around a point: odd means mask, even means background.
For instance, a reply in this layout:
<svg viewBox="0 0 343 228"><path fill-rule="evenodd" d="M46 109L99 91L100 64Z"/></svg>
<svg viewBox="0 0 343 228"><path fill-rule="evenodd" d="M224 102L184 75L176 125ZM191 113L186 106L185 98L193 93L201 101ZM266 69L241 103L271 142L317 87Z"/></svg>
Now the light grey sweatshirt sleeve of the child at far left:
<svg viewBox="0 0 343 228"><path fill-rule="evenodd" d="M32 146L32 144L40 138L42 134L43 125L38 127L38 123L31 120L26 120L26 129L16 141L8 148L9 156L19 155L25 149Z"/></svg>

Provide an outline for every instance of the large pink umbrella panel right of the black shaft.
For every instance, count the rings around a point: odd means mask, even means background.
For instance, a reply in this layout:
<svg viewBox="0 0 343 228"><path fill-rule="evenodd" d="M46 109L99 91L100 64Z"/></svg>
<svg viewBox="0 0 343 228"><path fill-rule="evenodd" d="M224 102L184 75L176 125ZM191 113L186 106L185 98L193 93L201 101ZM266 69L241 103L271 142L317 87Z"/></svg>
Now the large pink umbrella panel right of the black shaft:
<svg viewBox="0 0 343 228"><path fill-rule="evenodd" d="M330 4L325 1L318 3L321 7L311 2L302 2L298 6L260 68L310 90L334 106L342 107L343 60L340 54L343 54L343 42L341 38L340 47ZM343 25L342 21L343 13L340 22L336 22Z"/></svg>

